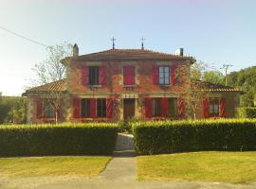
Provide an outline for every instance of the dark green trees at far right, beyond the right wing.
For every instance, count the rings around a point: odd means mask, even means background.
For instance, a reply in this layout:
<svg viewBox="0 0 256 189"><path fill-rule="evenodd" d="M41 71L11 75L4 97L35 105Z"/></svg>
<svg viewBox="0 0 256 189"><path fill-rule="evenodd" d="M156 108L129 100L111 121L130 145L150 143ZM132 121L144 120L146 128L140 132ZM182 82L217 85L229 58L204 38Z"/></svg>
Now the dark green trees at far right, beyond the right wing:
<svg viewBox="0 0 256 189"><path fill-rule="evenodd" d="M241 106L253 107L256 94L256 66L231 72L228 75L228 83L232 87L241 88L245 94L241 96Z"/></svg>

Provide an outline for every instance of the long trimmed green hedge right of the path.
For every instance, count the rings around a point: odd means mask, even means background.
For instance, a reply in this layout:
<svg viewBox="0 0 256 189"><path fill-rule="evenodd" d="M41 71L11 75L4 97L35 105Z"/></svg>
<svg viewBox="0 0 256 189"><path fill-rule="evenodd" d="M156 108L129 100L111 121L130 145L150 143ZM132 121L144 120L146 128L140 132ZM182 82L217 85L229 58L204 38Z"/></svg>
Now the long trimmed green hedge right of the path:
<svg viewBox="0 0 256 189"><path fill-rule="evenodd" d="M142 155L256 149L256 119L141 122L133 132Z"/></svg>

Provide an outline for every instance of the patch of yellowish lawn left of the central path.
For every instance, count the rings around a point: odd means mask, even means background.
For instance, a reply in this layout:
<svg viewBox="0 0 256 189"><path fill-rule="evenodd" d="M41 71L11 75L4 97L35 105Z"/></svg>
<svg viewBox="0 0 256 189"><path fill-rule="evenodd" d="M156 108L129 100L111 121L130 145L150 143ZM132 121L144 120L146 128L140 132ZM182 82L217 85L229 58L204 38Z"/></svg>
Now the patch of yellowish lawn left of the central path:
<svg viewBox="0 0 256 189"><path fill-rule="evenodd" d="M111 160L103 156L0 158L0 177L98 176Z"/></svg>

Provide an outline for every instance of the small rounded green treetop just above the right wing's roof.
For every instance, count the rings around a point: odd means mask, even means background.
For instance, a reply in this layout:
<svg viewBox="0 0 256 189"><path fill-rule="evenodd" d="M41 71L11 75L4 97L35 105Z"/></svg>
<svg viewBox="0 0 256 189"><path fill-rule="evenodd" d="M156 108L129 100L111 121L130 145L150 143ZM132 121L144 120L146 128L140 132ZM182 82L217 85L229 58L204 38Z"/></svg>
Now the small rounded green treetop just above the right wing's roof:
<svg viewBox="0 0 256 189"><path fill-rule="evenodd" d="M203 75L203 80L213 84L225 84L225 76L217 70L206 71Z"/></svg>

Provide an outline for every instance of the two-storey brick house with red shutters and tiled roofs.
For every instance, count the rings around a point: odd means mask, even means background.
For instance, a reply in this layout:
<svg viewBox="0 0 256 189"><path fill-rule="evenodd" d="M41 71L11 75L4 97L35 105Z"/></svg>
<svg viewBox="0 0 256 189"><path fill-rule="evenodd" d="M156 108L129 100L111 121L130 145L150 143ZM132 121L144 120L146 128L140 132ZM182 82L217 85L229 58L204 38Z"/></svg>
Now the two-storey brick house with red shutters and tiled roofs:
<svg viewBox="0 0 256 189"><path fill-rule="evenodd" d="M54 121L48 98L61 96L60 122L86 122L155 119L185 119L186 103L182 99L195 60L183 56L141 49L109 49L79 55L77 44L73 56L61 61L66 78L27 90L27 122ZM187 68L182 80L180 68ZM198 81L209 92L202 99L199 118L234 117L241 91L228 86ZM185 87L185 88L184 88ZM51 94L51 95L49 95ZM50 96L50 97L49 97Z"/></svg>

